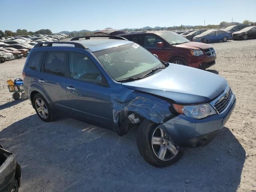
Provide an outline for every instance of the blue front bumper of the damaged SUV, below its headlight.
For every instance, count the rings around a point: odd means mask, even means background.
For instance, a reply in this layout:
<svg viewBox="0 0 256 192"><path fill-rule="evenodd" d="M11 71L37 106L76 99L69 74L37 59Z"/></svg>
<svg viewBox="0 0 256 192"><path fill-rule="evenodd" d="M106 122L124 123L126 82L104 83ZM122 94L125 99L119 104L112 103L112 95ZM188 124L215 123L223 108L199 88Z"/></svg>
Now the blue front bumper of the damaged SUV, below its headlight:
<svg viewBox="0 0 256 192"><path fill-rule="evenodd" d="M182 147L198 147L208 144L223 128L236 105L233 94L225 112L214 114L204 119L192 119L183 114L159 125L170 135L172 142Z"/></svg>

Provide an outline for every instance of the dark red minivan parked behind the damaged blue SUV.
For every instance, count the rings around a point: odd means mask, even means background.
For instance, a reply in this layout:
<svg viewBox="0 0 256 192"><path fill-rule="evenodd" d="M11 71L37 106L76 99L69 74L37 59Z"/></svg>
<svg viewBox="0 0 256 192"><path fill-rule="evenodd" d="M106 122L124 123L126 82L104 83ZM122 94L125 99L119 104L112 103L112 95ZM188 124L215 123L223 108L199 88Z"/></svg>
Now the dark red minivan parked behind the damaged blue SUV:
<svg viewBox="0 0 256 192"><path fill-rule="evenodd" d="M165 62L201 69L215 64L216 53L212 46L190 42L174 32L150 31L119 36L140 44Z"/></svg>

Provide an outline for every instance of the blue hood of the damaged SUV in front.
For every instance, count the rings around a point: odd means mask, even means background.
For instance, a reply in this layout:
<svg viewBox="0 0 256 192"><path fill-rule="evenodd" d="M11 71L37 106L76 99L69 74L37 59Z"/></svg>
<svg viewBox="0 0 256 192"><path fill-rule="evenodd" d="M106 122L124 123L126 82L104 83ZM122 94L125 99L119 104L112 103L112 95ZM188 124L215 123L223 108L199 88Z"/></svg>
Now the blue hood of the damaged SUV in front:
<svg viewBox="0 0 256 192"><path fill-rule="evenodd" d="M223 77L211 72L170 64L156 74L122 85L162 96L179 104L196 104L216 98L228 83Z"/></svg>

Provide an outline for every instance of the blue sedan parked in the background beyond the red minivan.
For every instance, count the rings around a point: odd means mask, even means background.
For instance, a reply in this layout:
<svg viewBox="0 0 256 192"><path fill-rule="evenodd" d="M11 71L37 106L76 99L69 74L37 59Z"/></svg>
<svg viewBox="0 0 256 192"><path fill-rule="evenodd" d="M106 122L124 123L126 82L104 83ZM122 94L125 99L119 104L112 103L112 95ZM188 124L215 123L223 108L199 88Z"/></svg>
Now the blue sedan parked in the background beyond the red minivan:
<svg viewBox="0 0 256 192"><path fill-rule="evenodd" d="M202 43L226 42L231 39L231 33L223 30L207 30L200 35L194 36L193 41Z"/></svg>

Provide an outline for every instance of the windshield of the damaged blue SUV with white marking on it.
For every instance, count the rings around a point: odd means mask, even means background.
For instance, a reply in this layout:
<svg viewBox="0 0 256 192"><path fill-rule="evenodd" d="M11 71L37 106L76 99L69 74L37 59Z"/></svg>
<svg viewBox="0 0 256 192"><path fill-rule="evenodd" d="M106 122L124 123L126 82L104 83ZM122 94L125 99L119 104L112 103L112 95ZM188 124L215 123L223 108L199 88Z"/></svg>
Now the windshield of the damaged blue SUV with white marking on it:
<svg viewBox="0 0 256 192"><path fill-rule="evenodd" d="M153 54L136 43L93 53L116 81L142 77L150 70L163 67Z"/></svg>

